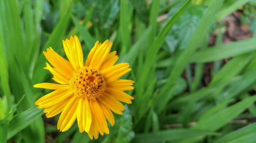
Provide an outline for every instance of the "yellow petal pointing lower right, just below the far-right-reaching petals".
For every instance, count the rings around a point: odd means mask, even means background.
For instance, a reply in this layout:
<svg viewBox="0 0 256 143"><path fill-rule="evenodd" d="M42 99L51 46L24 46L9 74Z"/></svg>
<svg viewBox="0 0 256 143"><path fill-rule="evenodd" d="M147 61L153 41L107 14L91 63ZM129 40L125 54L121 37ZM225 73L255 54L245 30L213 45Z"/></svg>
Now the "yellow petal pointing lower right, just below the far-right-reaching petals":
<svg viewBox="0 0 256 143"><path fill-rule="evenodd" d="M102 97L97 98L102 104L109 107L113 112L122 115L122 111L124 110L124 106L117 99L112 97L109 94L103 93Z"/></svg>

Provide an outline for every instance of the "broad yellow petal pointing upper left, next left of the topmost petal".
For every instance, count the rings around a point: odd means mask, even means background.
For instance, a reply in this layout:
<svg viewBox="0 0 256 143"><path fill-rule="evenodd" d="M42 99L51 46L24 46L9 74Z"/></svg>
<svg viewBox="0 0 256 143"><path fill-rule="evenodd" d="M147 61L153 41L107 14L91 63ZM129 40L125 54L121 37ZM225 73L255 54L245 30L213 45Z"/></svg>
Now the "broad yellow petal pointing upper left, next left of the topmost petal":
<svg viewBox="0 0 256 143"><path fill-rule="evenodd" d="M56 68L56 70L59 73L62 73L66 77L69 77L73 73L74 68L72 67L70 62L62 58L53 49L48 48L47 52L43 52L43 53L46 56L46 59L51 63L51 65L54 68Z"/></svg>

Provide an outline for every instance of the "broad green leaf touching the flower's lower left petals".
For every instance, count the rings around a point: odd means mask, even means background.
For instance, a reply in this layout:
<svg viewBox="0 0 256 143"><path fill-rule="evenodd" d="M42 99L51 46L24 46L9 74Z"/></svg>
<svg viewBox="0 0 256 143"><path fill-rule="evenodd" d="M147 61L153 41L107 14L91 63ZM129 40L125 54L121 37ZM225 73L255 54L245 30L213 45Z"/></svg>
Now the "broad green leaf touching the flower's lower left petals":
<svg viewBox="0 0 256 143"><path fill-rule="evenodd" d="M30 108L26 111L18 113L14 118L10 121L10 126L8 128L8 139L13 135L23 130L27 126L29 126L33 121L43 115L42 109L38 109L37 107Z"/></svg>

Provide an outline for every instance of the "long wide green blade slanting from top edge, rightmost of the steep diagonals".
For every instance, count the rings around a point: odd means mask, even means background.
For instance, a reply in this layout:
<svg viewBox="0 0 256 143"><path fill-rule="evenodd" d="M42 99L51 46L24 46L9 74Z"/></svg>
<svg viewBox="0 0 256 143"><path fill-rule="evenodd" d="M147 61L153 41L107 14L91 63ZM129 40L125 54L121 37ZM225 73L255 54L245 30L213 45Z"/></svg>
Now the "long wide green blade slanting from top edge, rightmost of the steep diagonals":
<svg viewBox="0 0 256 143"><path fill-rule="evenodd" d="M182 51L179 58L177 59L174 69L172 70L167 79L167 83L162 87L158 95L159 98L155 102L155 105L157 106L156 111L158 113L162 111L168 100L172 98L173 93L171 90L169 90L169 87L174 86L175 82L178 80L185 66L189 62L191 56L202 43L202 40L204 39L206 33L210 28L210 25L212 24L212 22L214 22L214 19L212 17L215 16L216 12L222 5L222 2L223 0L211 1L209 8L203 15L201 21L198 23L195 32L191 35L185 49Z"/></svg>

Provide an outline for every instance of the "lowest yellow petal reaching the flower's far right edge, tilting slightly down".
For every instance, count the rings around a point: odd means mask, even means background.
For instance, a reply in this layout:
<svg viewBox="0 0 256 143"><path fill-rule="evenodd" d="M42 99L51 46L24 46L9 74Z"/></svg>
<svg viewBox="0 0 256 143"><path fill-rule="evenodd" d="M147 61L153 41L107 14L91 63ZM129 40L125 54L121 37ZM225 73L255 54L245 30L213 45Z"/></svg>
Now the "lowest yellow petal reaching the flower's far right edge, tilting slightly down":
<svg viewBox="0 0 256 143"><path fill-rule="evenodd" d="M118 101L128 103L128 104L131 104L132 103L131 100L134 99L132 96L112 88L106 88L105 93L108 93L112 97L116 98Z"/></svg>

